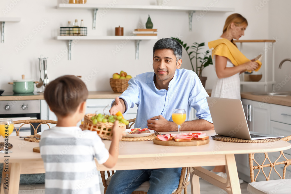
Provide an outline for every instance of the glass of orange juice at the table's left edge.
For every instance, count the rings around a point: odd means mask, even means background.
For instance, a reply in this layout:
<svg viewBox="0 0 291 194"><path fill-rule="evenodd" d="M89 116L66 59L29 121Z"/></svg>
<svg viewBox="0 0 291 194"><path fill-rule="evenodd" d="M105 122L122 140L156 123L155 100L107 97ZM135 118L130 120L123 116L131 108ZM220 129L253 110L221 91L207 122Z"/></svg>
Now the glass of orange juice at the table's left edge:
<svg viewBox="0 0 291 194"><path fill-rule="evenodd" d="M10 118L0 118L0 135L4 138L4 148L0 153L4 153L4 149L8 149L8 136L13 131L13 120ZM11 151L8 153L12 153Z"/></svg>

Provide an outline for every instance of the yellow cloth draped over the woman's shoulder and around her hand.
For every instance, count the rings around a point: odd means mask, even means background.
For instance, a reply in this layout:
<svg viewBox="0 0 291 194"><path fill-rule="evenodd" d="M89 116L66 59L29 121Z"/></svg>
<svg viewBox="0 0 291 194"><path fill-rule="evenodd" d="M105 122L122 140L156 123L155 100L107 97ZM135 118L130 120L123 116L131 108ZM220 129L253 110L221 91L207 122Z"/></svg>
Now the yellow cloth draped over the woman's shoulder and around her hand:
<svg viewBox="0 0 291 194"><path fill-rule="evenodd" d="M244 56L244 54L242 54L242 52L239 51L239 49L226 38L220 38L218 40L208 42L208 47L210 49L213 48L212 58L214 55L224 56L228 58L235 66L251 61L246 58L246 56ZM255 62L259 64L259 67L255 70L258 71L261 68L262 63L259 60L256 60ZM248 72L251 71L249 70Z"/></svg>

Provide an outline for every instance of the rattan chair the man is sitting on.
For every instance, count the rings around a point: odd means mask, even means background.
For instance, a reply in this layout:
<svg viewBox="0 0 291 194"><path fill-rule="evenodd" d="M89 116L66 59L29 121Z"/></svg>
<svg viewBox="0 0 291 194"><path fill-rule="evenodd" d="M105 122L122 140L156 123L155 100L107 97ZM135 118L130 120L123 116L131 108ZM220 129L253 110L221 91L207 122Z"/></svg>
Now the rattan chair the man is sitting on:
<svg viewBox="0 0 291 194"><path fill-rule="evenodd" d="M130 125L128 124L126 126L126 129L130 129L132 127L132 125L135 123L135 119L129 119L128 121ZM107 180L108 178L107 179L105 178L105 171L100 171L100 173L101 173L102 183L104 186L104 194L105 194L107 190L107 186L110 181ZM110 175L110 171L108 170L107 176L108 177L112 176L114 174L114 171L112 170L111 173L112 174ZM181 194L183 189L184 189L184 194L187 194L187 185L189 185L190 183L190 181L188 181L189 173L190 173L189 167L182 168L178 188L172 194ZM142 185L144 186L142 188L137 188L132 194L146 194L147 192L143 190L148 190L149 182L145 181ZM139 190L142 190L142 191L139 191Z"/></svg>

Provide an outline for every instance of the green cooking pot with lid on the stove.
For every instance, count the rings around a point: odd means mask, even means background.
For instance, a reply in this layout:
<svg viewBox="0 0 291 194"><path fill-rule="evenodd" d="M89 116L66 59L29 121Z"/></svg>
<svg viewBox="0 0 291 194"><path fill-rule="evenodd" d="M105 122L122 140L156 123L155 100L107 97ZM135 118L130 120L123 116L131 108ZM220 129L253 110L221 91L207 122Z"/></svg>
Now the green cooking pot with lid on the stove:
<svg viewBox="0 0 291 194"><path fill-rule="evenodd" d="M8 84L13 84L14 93L32 93L34 91L34 83L38 83L38 81L20 79L13 80L13 82L9 82Z"/></svg>

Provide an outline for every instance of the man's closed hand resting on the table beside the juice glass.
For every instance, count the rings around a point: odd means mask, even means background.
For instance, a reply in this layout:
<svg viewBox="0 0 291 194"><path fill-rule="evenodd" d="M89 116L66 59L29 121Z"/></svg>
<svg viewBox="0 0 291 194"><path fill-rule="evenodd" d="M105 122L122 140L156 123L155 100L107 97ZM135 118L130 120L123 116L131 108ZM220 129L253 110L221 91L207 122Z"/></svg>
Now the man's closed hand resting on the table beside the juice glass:
<svg viewBox="0 0 291 194"><path fill-rule="evenodd" d="M155 131L175 131L177 125L174 122L166 120L162 115L155 116L148 120L148 129Z"/></svg>

